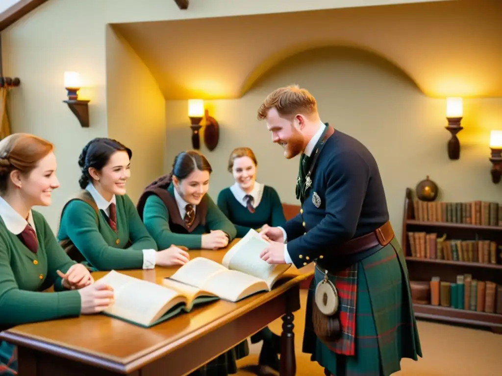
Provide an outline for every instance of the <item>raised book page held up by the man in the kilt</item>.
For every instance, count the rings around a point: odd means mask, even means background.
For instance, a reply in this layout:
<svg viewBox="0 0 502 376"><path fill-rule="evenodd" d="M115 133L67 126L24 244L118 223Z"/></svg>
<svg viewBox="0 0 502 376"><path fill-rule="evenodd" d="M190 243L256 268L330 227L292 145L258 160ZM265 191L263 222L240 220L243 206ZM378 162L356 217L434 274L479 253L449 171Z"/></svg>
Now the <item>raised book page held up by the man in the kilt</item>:
<svg viewBox="0 0 502 376"><path fill-rule="evenodd" d="M269 290L290 267L289 264L269 264L260 258L268 246L258 232L251 229L223 257L222 264L230 270L252 275L267 283Z"/></svg>

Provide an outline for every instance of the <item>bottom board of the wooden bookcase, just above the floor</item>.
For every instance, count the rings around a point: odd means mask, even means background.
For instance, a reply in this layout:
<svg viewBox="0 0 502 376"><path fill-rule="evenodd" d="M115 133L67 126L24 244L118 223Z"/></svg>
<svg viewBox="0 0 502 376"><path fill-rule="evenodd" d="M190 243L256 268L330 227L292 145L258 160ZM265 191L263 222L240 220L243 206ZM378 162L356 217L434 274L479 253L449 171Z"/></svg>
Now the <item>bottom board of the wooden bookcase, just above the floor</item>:
<svg viewBox="0 0 502 376"><path fill-rule="evenodd" d="M430 304L413 304L415 316L432 320L502 329L502 315ZM497 330L498 331L498 330Z"/></svg>

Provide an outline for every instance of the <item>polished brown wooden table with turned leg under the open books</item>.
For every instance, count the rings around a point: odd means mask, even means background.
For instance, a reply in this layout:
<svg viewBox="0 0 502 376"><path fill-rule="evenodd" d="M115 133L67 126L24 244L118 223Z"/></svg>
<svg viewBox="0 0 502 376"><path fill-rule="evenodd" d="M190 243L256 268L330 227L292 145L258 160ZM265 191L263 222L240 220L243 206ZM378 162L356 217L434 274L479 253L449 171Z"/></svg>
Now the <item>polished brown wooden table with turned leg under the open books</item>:
<svg viewBox="0 0 502 376"><path fill-rule="evenodd" d="M190 255L221 263L225 252L190 251ZM160 284L176 269L121 272ZM104 274L93 273L95 279ZM293 376L293 312L300 308L300 282L310 274L292 266L271 292L237 303L208 303L148 329L97 314L19 325L0 333L0 340L18 345L20 376L176 376L197 369L282 316L280 374Z"/></svg>

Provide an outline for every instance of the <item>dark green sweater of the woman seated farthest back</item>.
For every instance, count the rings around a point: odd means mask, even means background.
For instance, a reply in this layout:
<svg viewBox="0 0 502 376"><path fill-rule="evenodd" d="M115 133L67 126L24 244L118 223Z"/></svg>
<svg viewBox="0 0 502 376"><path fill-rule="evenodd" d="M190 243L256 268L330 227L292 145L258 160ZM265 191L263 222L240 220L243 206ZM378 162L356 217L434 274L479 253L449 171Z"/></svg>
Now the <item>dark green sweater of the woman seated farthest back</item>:
<svg viewBox="0 0 502 376"><path fill-rule="evenodd" d="M256 230L265 224L278 227L286 222L279 195L268 185L264 186L262 200L255 208L255 213L250 213L241 205L229 187L219 193L218 207L235 225L237 238L242 238L250 229Z"/></svg>

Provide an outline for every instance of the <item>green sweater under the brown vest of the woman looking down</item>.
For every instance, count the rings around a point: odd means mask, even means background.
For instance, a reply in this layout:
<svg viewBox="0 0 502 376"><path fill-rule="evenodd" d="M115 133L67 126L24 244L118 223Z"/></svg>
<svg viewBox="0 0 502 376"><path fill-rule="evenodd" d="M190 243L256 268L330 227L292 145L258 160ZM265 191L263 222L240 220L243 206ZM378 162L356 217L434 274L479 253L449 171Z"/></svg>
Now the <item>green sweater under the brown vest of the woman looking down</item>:
<svg viewBox="0 0 502 376"><path fill-rule="evenodd" d="M167 192L174 200L173 184L169 185ZM190 232L186 230L181 232L179 231L182 229L181 226L173 226L173 220L182 223L180 212L170 213L164 202L156 195L148 197L143 210L143 222L145 222L145 226L152 234L159 249L169 248L172 244L185 246L188 249L200 249L202 234L207 234L211 230L221 230L227 233L229 241L235 238L237 233L235 226L221 213L209 195L206 195L203 202L207 205L205 224L200 223ZM195 209L196 218L197 212L200 210L201 208L197 206Z"/></svg>

